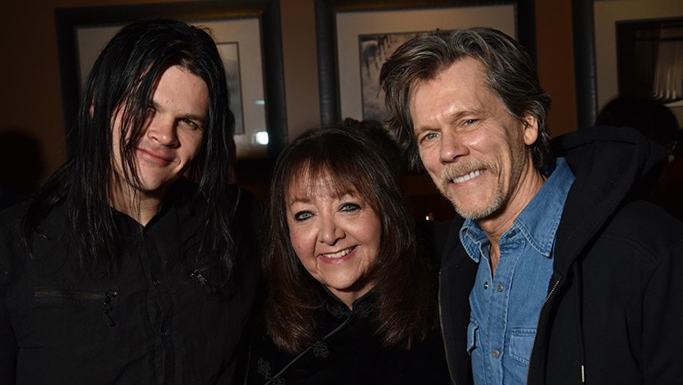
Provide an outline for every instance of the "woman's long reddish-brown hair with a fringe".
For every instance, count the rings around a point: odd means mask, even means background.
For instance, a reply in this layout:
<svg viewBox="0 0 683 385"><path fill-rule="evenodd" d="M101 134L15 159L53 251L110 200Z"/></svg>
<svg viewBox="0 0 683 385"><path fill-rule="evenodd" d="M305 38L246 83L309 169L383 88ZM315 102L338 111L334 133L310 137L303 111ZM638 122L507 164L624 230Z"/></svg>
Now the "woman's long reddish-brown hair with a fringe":
<svg viewBox="0 0 683 385"><path fill-rule="evenodd" d="M415 224L397 176L378 149L362 130L339 124L307 131L279 156L271 179L263 271L268 284L265 324L281 350L300 352L322 338L321 284L294 253L287 226L287 193L302 180L332 180L334 193L357 192L380 216L380 254L369 279L377 308L374 327L384 343L410 346L435 326L428 262L418 251Z"/></svg>

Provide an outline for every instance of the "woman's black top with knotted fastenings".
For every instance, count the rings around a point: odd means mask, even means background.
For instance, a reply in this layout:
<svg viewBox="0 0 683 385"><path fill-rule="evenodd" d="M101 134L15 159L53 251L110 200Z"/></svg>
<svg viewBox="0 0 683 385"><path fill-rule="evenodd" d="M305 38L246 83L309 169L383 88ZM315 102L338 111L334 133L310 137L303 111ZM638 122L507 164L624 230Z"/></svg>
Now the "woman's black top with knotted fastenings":
<svg viewBox="0 0 683 385"><path fill-rule="evenodd" d="M358 298L353 310L325 291L321 310L321 341L301 354L281 352L265 334L255 331L248 385L441 385L449 383L444 343L436 328L425 341L412 342L410 350L384 347L373 335L372 292Z"/></svg>

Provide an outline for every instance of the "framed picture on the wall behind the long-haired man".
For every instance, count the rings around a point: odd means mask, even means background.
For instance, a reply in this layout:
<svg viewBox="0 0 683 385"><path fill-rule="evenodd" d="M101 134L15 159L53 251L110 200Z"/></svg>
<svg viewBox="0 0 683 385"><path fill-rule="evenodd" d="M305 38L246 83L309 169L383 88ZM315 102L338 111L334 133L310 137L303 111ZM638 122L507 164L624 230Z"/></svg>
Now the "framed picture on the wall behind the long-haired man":
<svg viewBox="0 0 683 385"><path fill-rule="evenodd" d="M224 61L238 159L274 157L287 143L278 0L141 4L55 10L67 127L98 53L134 20L168 17L208 27Z"/></svg>

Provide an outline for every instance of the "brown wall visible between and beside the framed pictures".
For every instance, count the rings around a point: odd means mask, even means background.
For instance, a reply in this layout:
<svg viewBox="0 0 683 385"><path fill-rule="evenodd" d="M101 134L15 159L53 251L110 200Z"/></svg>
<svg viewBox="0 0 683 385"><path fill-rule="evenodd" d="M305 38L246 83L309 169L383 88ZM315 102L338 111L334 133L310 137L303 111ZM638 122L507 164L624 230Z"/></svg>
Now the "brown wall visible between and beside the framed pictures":
<svg viewBox="0 0 683 385"><path fill-rule="evenodd" d="M197 0L200 1L200 0ZM173 0L3 1L0 14L0 131L18 128L43 147L45 175L65 159L54 8ZM576 129L570 0L536 0L541 83L553 97L553 135ZM280 0L289 138L319 124L318 64L313 0ZM18 167L4 164L0 167ZM2 181L0 181L1 183Z"/></svg>

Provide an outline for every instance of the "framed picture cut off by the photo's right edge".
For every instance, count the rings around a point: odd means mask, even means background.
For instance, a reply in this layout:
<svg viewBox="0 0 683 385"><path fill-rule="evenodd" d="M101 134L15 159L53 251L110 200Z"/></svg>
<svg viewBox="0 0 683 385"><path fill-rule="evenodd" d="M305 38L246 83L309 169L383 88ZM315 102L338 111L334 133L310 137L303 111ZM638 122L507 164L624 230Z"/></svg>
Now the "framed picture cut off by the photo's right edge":
<svg viewBox="0 0 683 385"><path fill-rule="evenodd" d="M660 100L683 124L680 0L574 0L579 127L618 96Z"/></svg>

